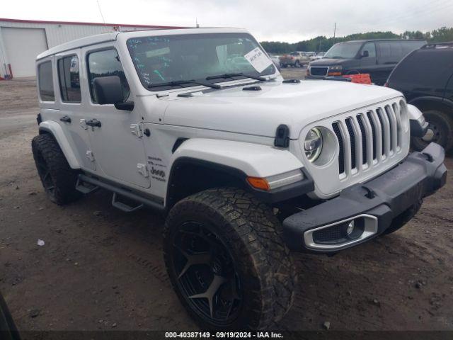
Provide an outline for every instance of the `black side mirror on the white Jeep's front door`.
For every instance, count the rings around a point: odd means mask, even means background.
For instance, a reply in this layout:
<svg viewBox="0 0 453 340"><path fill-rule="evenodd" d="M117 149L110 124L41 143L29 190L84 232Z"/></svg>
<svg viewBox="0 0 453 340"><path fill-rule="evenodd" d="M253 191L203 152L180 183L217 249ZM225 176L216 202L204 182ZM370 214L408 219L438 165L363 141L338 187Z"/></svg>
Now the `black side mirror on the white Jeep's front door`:
<svg viewBox="0 0 453 340"><path fill-rule="evenodd" d="M93 79L93 88L99 104L115 104L118 110L132 111L133 101L124 101L122 98L121 80L118 76L98 77Z"/></svg>

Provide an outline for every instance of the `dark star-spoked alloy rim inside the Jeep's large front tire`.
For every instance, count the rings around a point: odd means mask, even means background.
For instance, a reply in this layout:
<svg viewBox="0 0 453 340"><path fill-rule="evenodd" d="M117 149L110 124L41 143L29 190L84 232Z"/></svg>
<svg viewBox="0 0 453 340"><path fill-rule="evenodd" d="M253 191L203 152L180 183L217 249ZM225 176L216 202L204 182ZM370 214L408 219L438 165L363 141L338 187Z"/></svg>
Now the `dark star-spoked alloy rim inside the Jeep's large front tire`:
<svg viewBox="0 0 453 340"><path fill-rule="evenodd" d="M203 319L218 326L236 320L242 292L234 260L206 225L185 222L173 239L173 265L180 292Z"/></svg>

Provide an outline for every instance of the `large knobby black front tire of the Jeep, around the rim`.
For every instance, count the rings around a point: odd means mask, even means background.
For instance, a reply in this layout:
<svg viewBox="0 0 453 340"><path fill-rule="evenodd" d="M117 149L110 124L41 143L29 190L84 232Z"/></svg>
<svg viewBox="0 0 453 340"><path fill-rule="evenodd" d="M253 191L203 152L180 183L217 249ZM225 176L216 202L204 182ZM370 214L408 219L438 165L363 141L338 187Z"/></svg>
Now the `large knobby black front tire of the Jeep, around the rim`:
<svg viewBox="0 0 453 340"><path fill-rule="evenodd" d="M187 221L209 226L234 261L243 303L230 324L219 325L200 315L178 285L173 242ZM266 329L292 305L297 275L282 240L282 226L267 205L240 189L214 188L177 203L166 220L164 259L180 301L202 329Z"/></svg>

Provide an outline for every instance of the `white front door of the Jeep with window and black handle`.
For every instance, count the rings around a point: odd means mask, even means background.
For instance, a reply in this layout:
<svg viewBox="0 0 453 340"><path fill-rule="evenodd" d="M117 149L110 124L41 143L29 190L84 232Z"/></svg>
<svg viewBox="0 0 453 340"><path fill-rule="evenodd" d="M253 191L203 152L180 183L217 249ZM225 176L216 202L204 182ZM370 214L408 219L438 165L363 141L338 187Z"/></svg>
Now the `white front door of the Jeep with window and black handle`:
<svg viewBox="0 0 453 340"><path fill-rule="evenodd" d="M114 181L127 185L149 188L150 179L144 153L142 137L132 133L132 127L141 123L142 116L134 111L117 110L113 105L99 105L93 91L93 79L116 75L120 77L123 96L126 100L132 94L122 69L120 57L115 48L105 45L93 50L84 48L85 71L90 98L86 108L86 120L90 135L96 172ZM130 100L130 99L129 99Z"/></svg>

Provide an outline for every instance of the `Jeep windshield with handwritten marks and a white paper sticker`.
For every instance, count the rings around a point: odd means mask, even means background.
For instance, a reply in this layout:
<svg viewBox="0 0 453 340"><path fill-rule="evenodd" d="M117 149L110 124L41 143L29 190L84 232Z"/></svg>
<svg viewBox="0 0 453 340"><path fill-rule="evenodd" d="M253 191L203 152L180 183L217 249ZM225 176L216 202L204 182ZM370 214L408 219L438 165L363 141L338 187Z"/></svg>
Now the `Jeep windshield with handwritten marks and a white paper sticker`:
<svg viewBox="0 0 453 340"><path fill-rule="evenodd" d="M142 84L151 91L159 89L157 84L171 81L205 80L220 74L257 77L275 73L273 62L246 33L131 38L127 48ZM249 62L244 56L256 48L260 60ZM216 81L222 80L231 79L219 77Z"/></svg>

